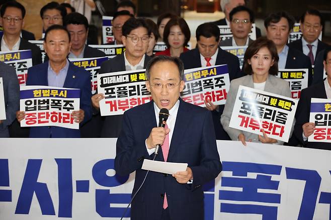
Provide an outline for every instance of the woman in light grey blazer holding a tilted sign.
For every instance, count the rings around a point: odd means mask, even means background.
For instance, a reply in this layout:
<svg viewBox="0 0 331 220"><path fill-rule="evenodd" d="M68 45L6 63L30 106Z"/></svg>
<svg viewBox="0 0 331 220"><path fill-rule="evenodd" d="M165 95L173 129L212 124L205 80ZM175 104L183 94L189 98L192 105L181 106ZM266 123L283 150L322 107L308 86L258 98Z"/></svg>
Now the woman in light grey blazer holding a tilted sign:
<svg viewBox="0 0 331 220"><path fill-rule="evenodd" d="M265 37L257 39L247 48L244 55L244 72L247 75L231 81L221 116L221 124L232 141L239 140L243 145L246 145L246 141L282 144L269 138L263 129L263 136L261 136L229 127L239 85L292 97L288 82L275 76L278 74L278 59L275 44Z"/></svg>

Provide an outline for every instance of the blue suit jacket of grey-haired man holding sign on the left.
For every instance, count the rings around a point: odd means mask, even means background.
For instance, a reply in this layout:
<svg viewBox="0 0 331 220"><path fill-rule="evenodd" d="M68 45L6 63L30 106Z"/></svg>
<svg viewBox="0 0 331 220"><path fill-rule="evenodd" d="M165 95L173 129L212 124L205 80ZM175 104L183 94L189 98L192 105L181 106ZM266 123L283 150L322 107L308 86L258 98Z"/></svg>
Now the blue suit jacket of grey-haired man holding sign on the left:
<svg viewBox="0 0 331 220"><path fill-rule="evenodd" d="M69 61L67 61L69 62ZM28 69L27 85L46 85L48 86L48 63L45 62ZM84 68L77 67L69 63L68 72L64 81L64 88L80 89L80 106L84 110L84 124L92 117L91 107L91 78L90 72ZM40 126L30 128L31 138L79 138L78 129L68 129L56 126Z"/></svg>

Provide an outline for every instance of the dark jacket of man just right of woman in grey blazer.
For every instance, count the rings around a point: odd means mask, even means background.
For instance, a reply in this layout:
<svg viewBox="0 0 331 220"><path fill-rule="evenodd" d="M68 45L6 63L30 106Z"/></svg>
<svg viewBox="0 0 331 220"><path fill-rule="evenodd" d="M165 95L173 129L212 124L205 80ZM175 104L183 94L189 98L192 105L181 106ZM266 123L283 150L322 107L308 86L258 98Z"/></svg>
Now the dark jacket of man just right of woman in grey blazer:
<svg viewBox="0 0 331 220"><path fill-rule="evenodd" d="M312 68L308 56L302 52L289 47L285 64L286 69L308 68L308 86L312 83Z"/></svg>

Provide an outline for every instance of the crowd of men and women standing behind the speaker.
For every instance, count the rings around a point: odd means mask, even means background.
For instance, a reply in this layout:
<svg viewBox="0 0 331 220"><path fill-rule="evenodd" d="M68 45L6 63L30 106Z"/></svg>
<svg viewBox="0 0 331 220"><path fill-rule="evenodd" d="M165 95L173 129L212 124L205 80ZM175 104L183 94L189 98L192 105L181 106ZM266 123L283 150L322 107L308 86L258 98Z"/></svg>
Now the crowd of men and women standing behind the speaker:
<svg viewBox="0 0 331 220"><path fill-rule="evenodd" d="M88 2L90 1L86 1ZM87 6L90 11L95 8L95 5L89 3ZM25 8L16 1L2 5L1 51L32 51L33 67L28 70L27 85L79 88L80 109L74 111L72 117L80 126L79 130L54 126L22 128L20 121L24 119L25 113L19 111L20 89L15 69L0 62L7 118L0 121L0 137L119 137L123 116L100 116L99 101L104 98L104 94L91 95L90 73L68 60L106 56L104 52L88 46L91 15L79 13L81 9L76 8L77 6L68 3L56 2L41 8L44 31L41 40L44 41L47 54L42 63L39 47L29 42L35 40L34 34L22 29ZM230 89L226 104L215 105L210 100L204 100L206 108L212 114L218 140L239 140L244 145L247 141L252 141L329 149L330 146L326 143L307 142L314 130L314 124L309 122L310 98L331 98L331 49L318 39L323 28L321 14L317 10L305 11L299 21L302 38L288 44L295 20L287 12L272 13L265 18L266 37L261 36L261 30L256 28L257 40L253 40L249 34L255 16L244 1L222 0L221 8L225 18L200 24L196 29L197 45L190 50L188 43L191 32L183 18L164 13L154 23L150 19L137 18L136 7L132 2L121 2L112 21L115 40L107 44L123 44L125 52L103 62L100 74L145 69L148 62L157 56L179 57L185 69L227 64ZM233 36L222 41L218 25L229 25ZM153 54L153 48L159 41L164 42L167 49ZM223 46L248 46L241 69L239 59L223 50ZM291 97L289 83L275 75L279 69L302 68L308 69L308 88L302 90L296 120L292 126L293 135L288 143L271 139L264 131L261 136L229 127L239 85ZM324 74L324 69L327 75Z"/></svg>

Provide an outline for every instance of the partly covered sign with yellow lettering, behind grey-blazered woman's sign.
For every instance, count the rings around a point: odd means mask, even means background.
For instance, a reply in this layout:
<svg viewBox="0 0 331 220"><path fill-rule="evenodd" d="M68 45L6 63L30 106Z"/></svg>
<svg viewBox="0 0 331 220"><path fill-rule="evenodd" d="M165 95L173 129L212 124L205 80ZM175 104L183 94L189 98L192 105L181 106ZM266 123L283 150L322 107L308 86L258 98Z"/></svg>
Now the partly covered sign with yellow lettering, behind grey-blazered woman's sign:
<svg viewBox="0 0 331 220"><path fill-rule="evenodd" d="M299 99L301 90L308 87L308 69L279 69L277 76L290 83L292 98Z"/></svg>

